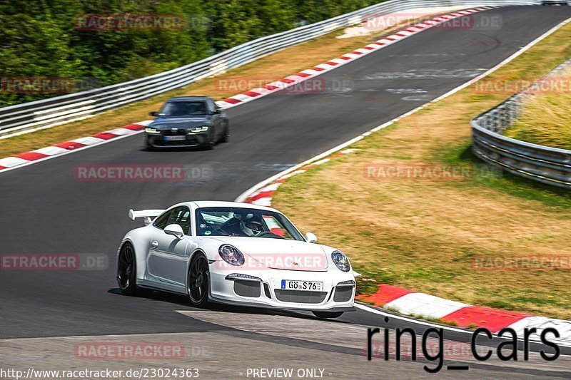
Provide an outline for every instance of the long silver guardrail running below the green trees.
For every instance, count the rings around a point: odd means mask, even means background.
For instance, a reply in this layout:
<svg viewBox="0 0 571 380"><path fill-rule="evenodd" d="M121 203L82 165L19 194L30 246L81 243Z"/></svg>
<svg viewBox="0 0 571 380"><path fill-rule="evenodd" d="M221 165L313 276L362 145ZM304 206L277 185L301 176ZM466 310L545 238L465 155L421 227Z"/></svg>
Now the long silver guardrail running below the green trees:
<svg viewBox="0 0 571 380"><path fill-rule="evenodd" d="M113 108L141 101L202 78L216 76L296 43L328 34L330 31L359 24L370 14L381 15L428 6L505 6L540 4L536 0L391 0L358 11L333 17L296 29L243 43L201 61L171 71L146 76L91 91L56 96L42 101L0 108L0 138L89 118Z"/></svg>

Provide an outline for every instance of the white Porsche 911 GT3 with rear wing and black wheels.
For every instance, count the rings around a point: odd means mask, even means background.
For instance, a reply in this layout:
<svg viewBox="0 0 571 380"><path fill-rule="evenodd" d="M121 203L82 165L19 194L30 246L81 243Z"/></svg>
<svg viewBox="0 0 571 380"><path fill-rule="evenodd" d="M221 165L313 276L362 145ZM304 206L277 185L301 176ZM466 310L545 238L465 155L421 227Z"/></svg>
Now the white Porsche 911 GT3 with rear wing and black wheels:
<svg viewBox="0 0 571 380"><path fill-rule="evenodd" d="M186 294L193 306L221 302L297 309L335 318L353 310L355 277L348 258L315 244L271 207L183 202L168 210L129 210L145 226L118 249L123 294L139 288Z"/></svg>

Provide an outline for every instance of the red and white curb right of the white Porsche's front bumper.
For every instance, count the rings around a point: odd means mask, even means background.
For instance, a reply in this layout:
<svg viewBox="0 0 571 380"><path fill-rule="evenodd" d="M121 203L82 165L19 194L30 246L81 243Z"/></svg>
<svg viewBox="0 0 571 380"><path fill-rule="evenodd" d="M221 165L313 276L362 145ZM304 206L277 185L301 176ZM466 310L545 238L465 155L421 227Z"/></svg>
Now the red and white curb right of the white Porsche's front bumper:
<svg viewBox="0 0 571 380"><path fill-rule="evenodd" d="M565 346L571 345L571 322L562 319L535 317L519 312L472 306L388 284L380 285L375 294L359 298L363 302L394 309L401 314L455 322L459 327L485 327L492 333L509 327L515 330L518 337L521 337L524 329L535 328L537 334L532 334L531 338L537 341L540 340L540 334L544 329L552 327L557 329L560 337L554 338L550 335L550 341Z"/></svg>

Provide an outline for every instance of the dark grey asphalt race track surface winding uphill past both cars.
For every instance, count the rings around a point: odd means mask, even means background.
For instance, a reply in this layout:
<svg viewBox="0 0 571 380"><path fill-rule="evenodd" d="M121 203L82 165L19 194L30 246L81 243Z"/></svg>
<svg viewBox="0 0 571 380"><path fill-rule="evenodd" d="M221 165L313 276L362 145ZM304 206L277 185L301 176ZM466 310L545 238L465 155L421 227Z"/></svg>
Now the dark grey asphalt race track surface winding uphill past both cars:
<svg viewBox="0 0 571 380"><path fill-rule="evenodd" d="M141 225L128 219L128 209L165 208L183 200L234 200L261 180L492 68L571 17L571 7L513 6L475 18L491 14L500 16L501 28L429 29L318 77L325 83L343 83L341 91L275 93L231 108L231 142L214 150L148 152L142 135L134 135L0 174L0 253L109 257L106 270L0 272L0 338L228 332L222 324L175 312L193 310L184 297L118 294L118 243L128 230ZM146 118L141 115L141 120ZM76 165L92 164L188 165L203 175L182 182L76 180ZM275 314L239 311L245 316ZM340 321L380 325L378 315L364 311L346 313ZM402 324L395 321L392 326ZM463 334L447 337L465 340Z"/></svg>

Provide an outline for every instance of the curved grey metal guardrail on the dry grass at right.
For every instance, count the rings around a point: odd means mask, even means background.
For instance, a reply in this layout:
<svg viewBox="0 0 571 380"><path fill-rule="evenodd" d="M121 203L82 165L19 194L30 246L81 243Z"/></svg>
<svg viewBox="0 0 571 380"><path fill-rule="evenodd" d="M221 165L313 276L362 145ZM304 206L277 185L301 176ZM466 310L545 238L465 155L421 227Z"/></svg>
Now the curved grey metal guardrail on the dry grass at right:
<svg viewBox="0 0 571 380"><path fill-rule="evenodd" d="M571 150L526 143L503 135L520 117L526 99L532 96L532 90L538 83L570 65L571 60L562 63L527 90L473 118L473 153L481 160L515 175L571 189Z"/></svg>

